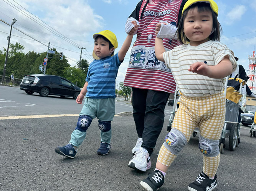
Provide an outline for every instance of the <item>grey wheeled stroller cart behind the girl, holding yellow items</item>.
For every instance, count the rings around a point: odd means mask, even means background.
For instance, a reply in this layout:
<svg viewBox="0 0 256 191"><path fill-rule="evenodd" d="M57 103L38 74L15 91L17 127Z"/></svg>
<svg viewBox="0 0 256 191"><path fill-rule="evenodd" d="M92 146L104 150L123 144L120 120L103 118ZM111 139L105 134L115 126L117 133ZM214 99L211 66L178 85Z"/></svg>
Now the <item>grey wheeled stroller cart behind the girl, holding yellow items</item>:
<svg viewBox="0 0 256 191"><path fill-rule="evenodd" d="M236 81L235 84L238 87L228 86L228 81ZM239 78L228 78L226 77L224 94L226 95L226 114L225 114L225 123L223 130L221 132L220 138L220 152L223 154L225 145L225 138L228 138L228 144L230 151L234 151L235 147L238 147L240 143L240 123L238 122L238 117L240 115L239 110L241 106L238 104L239 100L242 97L241 88L243 86L244 80ZM233 84L232 84L233 85ZM236 90L238 89L238 90ZM175 95L177 94L177 88ZM177 99L177 97L175 97ZM174 101L174 103L176 103ZM177 104L178 105L178 104ZM173 112L170 112L169 125L167 126L167 132L170 132L172 128L172 122L175 116L175 107L173 107ZM199 128L196 128L193 132L193 137L197 136L199 133ZM255 134L256 135L256 134Z"/></svg>

